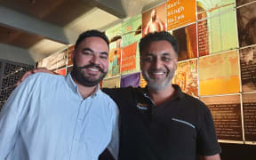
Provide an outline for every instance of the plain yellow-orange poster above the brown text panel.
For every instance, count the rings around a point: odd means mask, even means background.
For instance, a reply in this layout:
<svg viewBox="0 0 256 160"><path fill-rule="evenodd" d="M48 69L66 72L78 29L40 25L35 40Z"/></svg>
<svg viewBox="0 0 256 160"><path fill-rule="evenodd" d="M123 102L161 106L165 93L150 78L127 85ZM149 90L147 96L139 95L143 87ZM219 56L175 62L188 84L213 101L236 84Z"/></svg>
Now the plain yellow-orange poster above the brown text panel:
<svg viewBox="0 0 256 160"><path fill-rule="evenodd" d="M238 52L199 58L199 95L240 92Z"/></svg>

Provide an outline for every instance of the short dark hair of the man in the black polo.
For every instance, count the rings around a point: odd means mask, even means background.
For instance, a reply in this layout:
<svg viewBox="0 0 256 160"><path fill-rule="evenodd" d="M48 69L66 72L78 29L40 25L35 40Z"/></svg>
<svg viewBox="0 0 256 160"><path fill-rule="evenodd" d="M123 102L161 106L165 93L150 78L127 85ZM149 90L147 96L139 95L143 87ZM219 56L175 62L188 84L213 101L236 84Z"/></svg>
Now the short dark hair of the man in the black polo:
<svg viewBox="0 0 256 160"><path fill-rule="evenodd" d="M140 55L141 52L150 44L151 42L155 41L168 41L170 44L172 44L172 48L176 55L178 56L179 52L179 43L176 37L172 36L169 32L161 31L161 32L154 32L149 33L147 36L144 36L140 39Z"/></svg>

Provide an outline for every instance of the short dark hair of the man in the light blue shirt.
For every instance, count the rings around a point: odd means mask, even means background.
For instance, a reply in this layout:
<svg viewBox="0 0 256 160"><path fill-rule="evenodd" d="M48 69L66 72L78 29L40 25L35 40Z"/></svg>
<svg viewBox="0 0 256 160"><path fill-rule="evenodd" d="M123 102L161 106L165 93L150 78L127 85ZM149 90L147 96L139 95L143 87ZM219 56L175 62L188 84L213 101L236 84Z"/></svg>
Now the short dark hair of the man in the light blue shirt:
<svg viewBox="0 0 256 160"><path fill-rule="evenodd" d="M76 44L75 44L75 50L77 49L78 45L81 44L82 41L84 41L85 38L92 37L92 36L97 36L102 38L108 44L108 47L109 47L108 36L106 36L103 32L100 32L99 30L92 29L92 30L85 31L78 36L78 39L76 40Z"/></svg>

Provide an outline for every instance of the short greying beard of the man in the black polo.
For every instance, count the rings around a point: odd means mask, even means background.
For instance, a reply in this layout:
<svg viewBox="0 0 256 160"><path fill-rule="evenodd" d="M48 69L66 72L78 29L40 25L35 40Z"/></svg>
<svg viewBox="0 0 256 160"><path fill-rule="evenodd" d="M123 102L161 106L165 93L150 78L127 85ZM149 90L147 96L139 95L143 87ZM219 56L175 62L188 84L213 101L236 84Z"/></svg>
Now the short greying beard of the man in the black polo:
<svg viewBox="0 0 256 160"><path fill-rule="evenodd" d="M163 69L152 69L149 70L149 72L152 71L165 71ZM151 89L152 91L161 91L164 90L167 86L169 86L170 84L172 84L172 78L174 76L175 70L167 70L167 75L164 77L163 79L157 80L157 79L153 79L148 75L148 71L141 71L143 78L146 80L146 82L148 83L148 88ZM158 82L157 82L158 81Z"/></svg>

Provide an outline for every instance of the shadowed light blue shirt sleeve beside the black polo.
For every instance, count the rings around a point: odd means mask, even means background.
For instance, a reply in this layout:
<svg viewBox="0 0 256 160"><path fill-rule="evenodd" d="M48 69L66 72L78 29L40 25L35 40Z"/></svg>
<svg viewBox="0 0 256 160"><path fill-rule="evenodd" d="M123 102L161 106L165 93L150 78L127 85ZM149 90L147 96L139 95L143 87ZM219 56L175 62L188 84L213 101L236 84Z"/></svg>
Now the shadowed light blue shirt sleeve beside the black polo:
<svg viewBox="0 0 256 160"><path fill-rule="evenodd" d="M113 102L114 103L114 102ZM113 114L111 140L108 144L108 150L111 155L117 160L119 150L119 111L115 103L115 113Z"/></svg>

